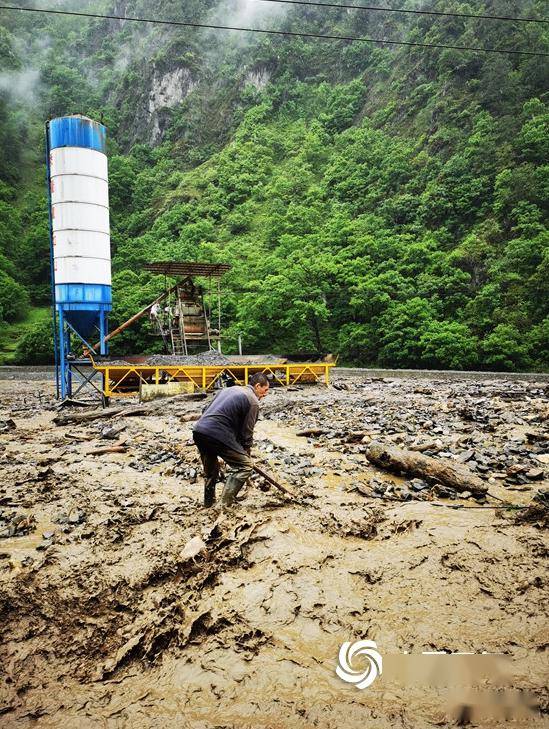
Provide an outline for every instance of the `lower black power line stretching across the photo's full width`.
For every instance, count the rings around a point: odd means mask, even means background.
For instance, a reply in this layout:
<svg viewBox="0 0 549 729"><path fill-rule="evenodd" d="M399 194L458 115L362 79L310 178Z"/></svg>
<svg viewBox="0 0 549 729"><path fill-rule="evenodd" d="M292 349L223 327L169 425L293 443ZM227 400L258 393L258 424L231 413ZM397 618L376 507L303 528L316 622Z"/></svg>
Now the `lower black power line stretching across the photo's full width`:
<svg viewBox="0 0 549 729"><path fill-rule="evenodd" d="M134 23L151 23L154 25L174 25L184 28L206 28L211 30L235 30L242 33L264 33L267 35L282 35L291 38L322 38L323 40L343 40L351 43L380 43L391 46L412 46L415 48L442 48L453 51L476 51L478 53L499 53L513 56L549 56L541 51L512 51L510 49L483 48L475 46L454 46L443 43L414 43L413 41L395 41L386 38L360 38L349 35L323 35L321 33L304 33L289 30L268 30L265 28L240 28L233 25L213 25L210 23L187 23L181 20L157 20L156 18L135 18L123 15L101 15L99 13L81 13L76 10L49 10L45 8L22 8L13 5L0 5L0 10L20 10L28 13L47 13L49 15L71 15L80 18L99 18L102 20L127 20Z"/></svg>

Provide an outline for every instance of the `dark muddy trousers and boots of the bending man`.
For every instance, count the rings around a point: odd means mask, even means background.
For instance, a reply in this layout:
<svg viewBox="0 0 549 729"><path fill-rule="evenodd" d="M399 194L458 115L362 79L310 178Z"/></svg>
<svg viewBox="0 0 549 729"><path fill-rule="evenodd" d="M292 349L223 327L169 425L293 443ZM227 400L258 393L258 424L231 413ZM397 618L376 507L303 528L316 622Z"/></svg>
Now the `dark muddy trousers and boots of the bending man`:
<svg viewBox="0 0 549 729"><path fill-rule="evenodd" d="M193 432L193 439L200 452L204 468L204 506L211 506L215 501L215 485L219 478L218 456L231 469L225 480L221 503L231 504L253 473L252 459L247 453L235 451L202 433Z"/></svg>

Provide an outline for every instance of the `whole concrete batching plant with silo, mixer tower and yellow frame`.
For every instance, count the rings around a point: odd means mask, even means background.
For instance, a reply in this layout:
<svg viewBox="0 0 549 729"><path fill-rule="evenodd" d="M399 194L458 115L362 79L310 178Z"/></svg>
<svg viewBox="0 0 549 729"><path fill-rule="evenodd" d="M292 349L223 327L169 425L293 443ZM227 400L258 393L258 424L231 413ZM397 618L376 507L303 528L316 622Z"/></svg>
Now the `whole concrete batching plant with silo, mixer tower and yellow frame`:
<svg viewBox="0 0 549 729"><path fill-rule="evenodd" d="M191 350L211 350L214 344L221 354L219 279L230 269L225 263L146 264L150 273L164 276L164 293L109 334L112 292L106 129L80 115L52 119L46 124L46 148L58 398L83 400L89 399L83 395L92 394L106 405L111 397L135 394L146 384L158 387L186 381L193 388L209 390L218 387L223 378L246 383L254 372L267 372L280 385L329 382L329 363L289 364L282 359L209 366L187 361ZM209 282L208 306L205 290L195 277ZM216 298L212 278L217 279L216 326L212 326L212 300ZM108 341L145 316L150 333L162 337L164 351L174 361L151 366L144 355L132 357L135 363L105 361Z"/></svg>

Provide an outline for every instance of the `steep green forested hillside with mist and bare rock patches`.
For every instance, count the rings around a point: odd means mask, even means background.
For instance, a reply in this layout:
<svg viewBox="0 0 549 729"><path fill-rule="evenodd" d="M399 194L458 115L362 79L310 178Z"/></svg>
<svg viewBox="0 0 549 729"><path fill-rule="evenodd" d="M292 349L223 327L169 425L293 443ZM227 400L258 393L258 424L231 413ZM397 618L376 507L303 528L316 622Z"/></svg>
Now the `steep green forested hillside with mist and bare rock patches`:
<svg viewBox="0 0 549 729"><path fill-rule="evenodd" d="M37 5L549 52L547 26L518 21L256 0ZM43 123L82 113L109 135L112 326L163 288L144 262L222 261L228 352L241 333L246 351L363 366L545 369L547 60L0 11L0 316L48 303ZM146 329L113 351L150 349ZM19 361L46 356L49 337L34 324Z"/></svg>

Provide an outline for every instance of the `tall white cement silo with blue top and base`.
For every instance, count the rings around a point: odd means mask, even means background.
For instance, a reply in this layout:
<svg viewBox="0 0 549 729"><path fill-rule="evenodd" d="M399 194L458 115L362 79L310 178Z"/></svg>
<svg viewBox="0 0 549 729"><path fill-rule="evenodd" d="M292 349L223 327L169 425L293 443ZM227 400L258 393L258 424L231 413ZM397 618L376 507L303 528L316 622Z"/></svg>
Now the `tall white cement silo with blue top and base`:
<svg viewBox="0 0 549 729"><path fill-rule="evenodd" d="M112 308L106 129L84 116L46 125L58 393L73 395L76 343L106 354Z"/></svg>

